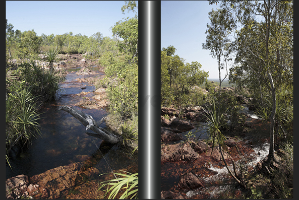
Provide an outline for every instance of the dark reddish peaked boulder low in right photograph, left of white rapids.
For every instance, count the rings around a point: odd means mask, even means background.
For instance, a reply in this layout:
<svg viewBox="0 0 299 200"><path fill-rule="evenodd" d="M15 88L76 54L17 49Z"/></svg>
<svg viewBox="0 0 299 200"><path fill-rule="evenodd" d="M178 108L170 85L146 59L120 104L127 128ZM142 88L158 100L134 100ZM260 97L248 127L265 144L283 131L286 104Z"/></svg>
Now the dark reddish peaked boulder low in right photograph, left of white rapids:
<svg viewBox="0 0 299 200"><path fill-rule="evenodd" d="M180 178L178 187L184 190L195 190L204 186L195 174L189 172Z"/></svg>

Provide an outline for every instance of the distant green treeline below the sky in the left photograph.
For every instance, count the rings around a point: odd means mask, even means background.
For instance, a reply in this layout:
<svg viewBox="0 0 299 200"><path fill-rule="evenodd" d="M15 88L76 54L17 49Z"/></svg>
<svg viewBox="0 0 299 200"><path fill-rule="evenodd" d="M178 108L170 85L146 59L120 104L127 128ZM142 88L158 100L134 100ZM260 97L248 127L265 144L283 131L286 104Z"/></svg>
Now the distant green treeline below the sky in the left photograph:
<svg viewBox="0 0 299 200"><path fill-rule="evenodd" d="M5 39L7 59L34 59L50 48L57 48L62 54L87 53L87 56L93 58L100 57L106 51L114 53L118 51L117 38L103 37L100 32L90 37L80 33L73 35L72 32L38 36L33 29L23 32L18 29L13 30L13 25L7 24L7 19Z"/></svg>

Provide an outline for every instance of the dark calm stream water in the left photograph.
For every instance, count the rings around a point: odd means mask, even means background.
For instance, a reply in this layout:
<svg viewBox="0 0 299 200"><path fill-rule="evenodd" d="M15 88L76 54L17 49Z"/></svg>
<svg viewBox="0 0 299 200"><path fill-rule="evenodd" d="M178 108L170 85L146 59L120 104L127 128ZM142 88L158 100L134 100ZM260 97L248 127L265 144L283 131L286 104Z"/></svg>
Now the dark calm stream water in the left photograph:
<svg viewBox="0 0 299 200"><path fill-rule="evenodd" d="M78 69L80 68L71 70ZM34 138L31 145L23 147L20 153L10 159L12 170L6 166L6 179L19 174L31 177L58 166L82 162L99 152L98 147L103 141L100 138L87 135L85 127L77 119L58 110L59 106L72 106L91 115L96 121L100 121L107 115L106 110L88 110L74 106L82 100L82 97L76 94L85 91L91 92L92 96L95 90L93 85L86 82L80 83L75 79L103 75L103 72L97 71L96 67L90 69L95 70L97 74L83 76L68 73L66 80L61 83L62 91L57 95L55 101L44 103L42 108L44 113L41 114L42 119L39 121L41 136ZM86 89L82 90L82 87L86 87ZM100 127L108 129L105 122ZM105 159L101 157L93 166L100 173L111 172L108 164L113 170L118 170L136 162L118 146L113 146L103 156Z"/></svg>

